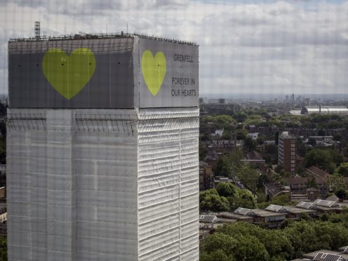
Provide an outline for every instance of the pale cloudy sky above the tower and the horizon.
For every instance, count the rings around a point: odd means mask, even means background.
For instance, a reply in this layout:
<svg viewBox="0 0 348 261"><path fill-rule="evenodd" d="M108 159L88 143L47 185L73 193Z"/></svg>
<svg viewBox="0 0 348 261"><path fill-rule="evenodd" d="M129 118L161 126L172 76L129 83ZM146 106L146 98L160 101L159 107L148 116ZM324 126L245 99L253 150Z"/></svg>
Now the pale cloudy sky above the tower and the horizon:
<svg viewBox="0 0 348 261"><path fill-rule="evenodd" d="M199 44L205 93L348 93L348 0L0 0L0 93L8 39L140 33Z"/></svg>

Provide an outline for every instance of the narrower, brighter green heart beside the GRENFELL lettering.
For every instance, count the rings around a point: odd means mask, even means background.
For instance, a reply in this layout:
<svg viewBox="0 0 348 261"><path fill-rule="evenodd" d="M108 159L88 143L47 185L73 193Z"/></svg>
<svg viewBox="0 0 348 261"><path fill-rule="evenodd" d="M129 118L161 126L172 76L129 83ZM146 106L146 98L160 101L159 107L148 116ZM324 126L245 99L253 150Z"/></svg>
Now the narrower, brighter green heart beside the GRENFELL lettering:
<svg viewBox="0 0 348 261"><path fill-rule="evenodd" d="M152 55L152 52L147 50L142 53L142 76L152 95L156 96L161 88L161 85L166 76L166 55L162 52Z"/></svg>

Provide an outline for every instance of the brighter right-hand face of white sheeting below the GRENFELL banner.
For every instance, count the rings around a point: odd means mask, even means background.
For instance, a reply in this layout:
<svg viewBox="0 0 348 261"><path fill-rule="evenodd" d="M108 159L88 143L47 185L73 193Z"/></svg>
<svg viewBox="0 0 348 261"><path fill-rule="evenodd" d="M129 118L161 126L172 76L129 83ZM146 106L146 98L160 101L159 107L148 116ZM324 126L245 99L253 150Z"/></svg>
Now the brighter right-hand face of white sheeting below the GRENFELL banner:
<svg viewBox="0 0 348 261"><path fill-rule="evenodd" d="M199 259L198 108L140 109L140 260Z"/></svg>

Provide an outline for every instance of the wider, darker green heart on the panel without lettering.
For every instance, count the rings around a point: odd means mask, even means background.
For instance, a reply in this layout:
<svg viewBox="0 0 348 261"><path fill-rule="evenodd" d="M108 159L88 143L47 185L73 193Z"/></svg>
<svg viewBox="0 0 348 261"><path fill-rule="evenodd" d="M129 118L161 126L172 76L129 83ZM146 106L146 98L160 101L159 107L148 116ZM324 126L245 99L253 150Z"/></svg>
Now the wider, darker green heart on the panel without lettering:
<svg viewBox="0 0 348 261"><path fill-rule="evenodd" d="M50 49L42 60L42 70L55 91L70 100L93 76L95 57L89 48L77 48L70 56L61 49Z"/></svg>

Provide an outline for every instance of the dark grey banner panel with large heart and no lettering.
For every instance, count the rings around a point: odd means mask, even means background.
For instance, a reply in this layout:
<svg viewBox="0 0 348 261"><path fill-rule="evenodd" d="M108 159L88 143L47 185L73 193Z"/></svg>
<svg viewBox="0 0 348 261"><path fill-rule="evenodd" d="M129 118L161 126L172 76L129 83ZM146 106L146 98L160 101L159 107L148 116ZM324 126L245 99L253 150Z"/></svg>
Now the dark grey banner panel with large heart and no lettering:
<svg viewBox="0 0 348 261"><path fill-rule="evenodd" d="M46 57L45 63L45 54L55 52L54 50L62 53L60 60L55 59L53 53ZM88 50L89 60L79 56L81 55L79 50ZM73 59L74 52L78 55ZM134 107L133 38L131 37L13 41L8 43L8 59L10 107ZM90 62L89 65L93 70L87 73L86 70L81 72L79 62L86 64L86 61ZM62 70L64 66L67 69ZM71 75L70 78L64 75L66 72ZM82 81L80 74L88 79ZM65 79L68 79L67 86L77 84L78 90L81 91L74 95L69 94L72 96L70 97L64 91L67 87L62 81Z"/></svg>

